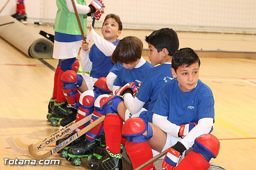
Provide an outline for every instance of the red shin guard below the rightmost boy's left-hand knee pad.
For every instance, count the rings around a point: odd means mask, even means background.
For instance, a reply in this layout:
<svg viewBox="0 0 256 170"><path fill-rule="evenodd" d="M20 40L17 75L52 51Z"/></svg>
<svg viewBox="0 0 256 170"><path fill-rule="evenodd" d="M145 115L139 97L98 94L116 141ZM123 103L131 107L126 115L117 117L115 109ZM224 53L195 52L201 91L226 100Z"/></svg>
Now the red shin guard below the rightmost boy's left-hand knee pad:
<svg viewBox="0 0 256 170"><path fill-rule="evenodd" d="M148 142L142 143L134 143L134 142L126 142L126 152L132 162L133 169L138 166L144 164L151 158L153 158L152 150L148 144ZM154 163L152 162L142 170L154 170Z"/></svg>

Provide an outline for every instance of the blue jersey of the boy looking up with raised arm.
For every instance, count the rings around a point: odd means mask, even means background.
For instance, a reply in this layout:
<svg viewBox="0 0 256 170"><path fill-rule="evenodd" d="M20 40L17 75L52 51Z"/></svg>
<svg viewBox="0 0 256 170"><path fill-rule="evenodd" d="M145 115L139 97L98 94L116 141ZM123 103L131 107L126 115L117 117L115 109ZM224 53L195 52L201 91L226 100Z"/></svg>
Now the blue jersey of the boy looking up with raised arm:
<svg viewBox="0 0 256 170"><path fill-rule="evenodd" d="M117 45L119 41L120 40L116 40L113 44ZM104 55L104 53L102 53L95 44L92 45L89 58L92 62L90 77L97 79L100 77L106 77L114 65L114 63L111 62L111 57Z"/></svg>

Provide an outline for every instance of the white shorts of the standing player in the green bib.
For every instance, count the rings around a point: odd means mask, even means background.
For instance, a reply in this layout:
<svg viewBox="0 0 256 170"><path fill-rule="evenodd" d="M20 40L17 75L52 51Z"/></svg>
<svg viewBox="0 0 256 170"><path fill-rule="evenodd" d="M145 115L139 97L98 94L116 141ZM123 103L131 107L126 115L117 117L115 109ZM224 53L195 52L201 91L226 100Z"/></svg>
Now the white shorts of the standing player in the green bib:
<svg viewBox="0 0 256 170"><path fill-rule="evenodd" d="M76 42L57 42L54 40L52 57L54 59L76 58L80 47L80 40Z"/></svg>

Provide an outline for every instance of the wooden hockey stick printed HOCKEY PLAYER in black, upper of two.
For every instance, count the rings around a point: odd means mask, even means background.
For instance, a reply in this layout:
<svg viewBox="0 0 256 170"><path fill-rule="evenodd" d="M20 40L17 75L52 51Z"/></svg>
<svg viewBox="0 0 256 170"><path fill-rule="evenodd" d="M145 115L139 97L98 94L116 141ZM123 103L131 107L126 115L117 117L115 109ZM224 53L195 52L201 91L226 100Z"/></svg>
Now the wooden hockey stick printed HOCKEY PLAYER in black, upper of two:
<svg viewBox="0 0 256 170"><path fill-rule="evenodd" d="M92 114L88 115L84 119L78 121L75 123L75 121L69 123L65 127L61 128L60 130L57 130L50 136L46 137L44 140L41 140L35 144L34 146L34 152L38 152L42 150L43 148L49 146L52 142L57 141L60 138L63 138L66 134L69 132L72 132L76 128L80 127L81 125L85 124L86 122L90 121L92 118ZM30 155L29 150L28 150L28 144L24 144L20 138L14 139L12 136L6 139L12 150L17 152L18 154L22 155Z"/></svg>

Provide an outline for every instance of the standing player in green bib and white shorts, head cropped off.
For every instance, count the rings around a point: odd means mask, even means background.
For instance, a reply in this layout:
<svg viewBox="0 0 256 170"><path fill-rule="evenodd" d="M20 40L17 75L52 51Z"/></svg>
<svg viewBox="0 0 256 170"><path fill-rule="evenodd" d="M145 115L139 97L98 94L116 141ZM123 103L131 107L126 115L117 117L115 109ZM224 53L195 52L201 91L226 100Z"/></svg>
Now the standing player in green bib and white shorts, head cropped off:
<svg viewBox="0 0 256 170"><path fill-rule="evenodd" d="M104 13L104 4L102 0L93 0L88 6L84 0L75 0L78 16L81 25L86 34L87 15L100 19ZM54 88L52 98L48 105L48 120L50 117L63 118L72 113L67 107L66 97L63 94L63 82L60 80L62 74L67 70L77 71L79 68L78 60L76 59L80 49L82 40L81 32L78 27L76 15L72 1L56 0L58 11L54 22L54 49L53 58L58 59L58 65L54 74ZM53 114L52 114L53 113Z"/></svg>

